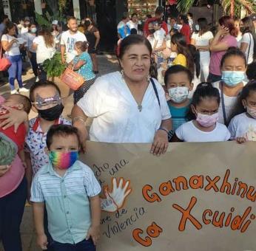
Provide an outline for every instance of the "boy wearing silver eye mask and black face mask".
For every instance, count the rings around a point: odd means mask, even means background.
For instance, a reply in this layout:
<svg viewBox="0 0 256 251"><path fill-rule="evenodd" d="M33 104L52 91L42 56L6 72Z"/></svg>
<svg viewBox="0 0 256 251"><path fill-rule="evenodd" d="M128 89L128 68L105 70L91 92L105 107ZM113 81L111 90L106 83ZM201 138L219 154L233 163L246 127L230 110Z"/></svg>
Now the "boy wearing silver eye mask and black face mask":
<svg viewBox="0 0 256 251"><path fill-rule="evenodd" d="M33 111L37 112L38 116L29 122L30 127L25 144L29 189L32 176L35 176L41 167L49 163L49 157L44 148L50 126L70 125L70 121L61 117L64 106L61 103L61 91L55 83L47 80L35 83L30 88L30 101Z"/></svg>

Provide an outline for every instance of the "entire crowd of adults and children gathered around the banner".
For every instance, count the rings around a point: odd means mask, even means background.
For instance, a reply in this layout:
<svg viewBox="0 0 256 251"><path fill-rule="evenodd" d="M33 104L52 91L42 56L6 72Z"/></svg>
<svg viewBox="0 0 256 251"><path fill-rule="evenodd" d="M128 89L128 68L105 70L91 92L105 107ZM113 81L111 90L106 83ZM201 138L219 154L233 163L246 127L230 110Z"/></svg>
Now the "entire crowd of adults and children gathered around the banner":
<svg viewBox="0 0 256 251"><path fill-rule="evenodd" d="M256 14L241 20L223 16L215 34L205 17L193 21L188 13L166 17L167 22L163 17L158 7L144 27L136 13L122 18L117 27L121 70L98 78L100 35L90 18L79 27L74 17L67 18L67 31L58 21L50 31L25 20L20 37L18 27L4 18L1 46L11 62L11 95L0 96L5 251L21 250L26 199L33 204L42 250L95 250L101 187L78 160L87 140L151 143L155 156L165 154L172 142L255 141ZM21 79L23 48L38 78L30 90ZM74 92L71 121L61 116L61 91L44 72L44 61L58 51L62 63L85 80ZM30 109L37 116L28 120ZM88 118L93 119L89 131Z"/></svg>

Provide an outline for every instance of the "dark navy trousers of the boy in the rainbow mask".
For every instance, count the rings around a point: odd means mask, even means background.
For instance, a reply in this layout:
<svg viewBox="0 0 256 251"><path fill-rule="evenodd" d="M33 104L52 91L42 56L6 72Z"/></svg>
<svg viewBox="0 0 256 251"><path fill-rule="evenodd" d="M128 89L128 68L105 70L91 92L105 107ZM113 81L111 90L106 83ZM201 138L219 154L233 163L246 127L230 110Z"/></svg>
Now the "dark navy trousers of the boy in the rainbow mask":
<svg viewBox="0 0 256 251"><path fill-rule="evenodd" d="M95 251L96 247L93 244L92 238L78 242L77 244L60 243L53 241L54 251Z"/></svg>

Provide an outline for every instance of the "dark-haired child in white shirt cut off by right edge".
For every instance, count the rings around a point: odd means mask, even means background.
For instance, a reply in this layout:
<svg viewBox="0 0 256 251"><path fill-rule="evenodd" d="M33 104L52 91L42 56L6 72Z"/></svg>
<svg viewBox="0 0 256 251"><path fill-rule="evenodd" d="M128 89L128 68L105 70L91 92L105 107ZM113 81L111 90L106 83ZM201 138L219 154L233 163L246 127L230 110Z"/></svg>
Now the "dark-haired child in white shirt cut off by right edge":
<svg viewBox="0 0 256 251"><path fill-rule="evenodd" d="M229 123L231 140L239 143L256 141L256 81L252 80L243 87L238 97L235 117Z"/></svg>

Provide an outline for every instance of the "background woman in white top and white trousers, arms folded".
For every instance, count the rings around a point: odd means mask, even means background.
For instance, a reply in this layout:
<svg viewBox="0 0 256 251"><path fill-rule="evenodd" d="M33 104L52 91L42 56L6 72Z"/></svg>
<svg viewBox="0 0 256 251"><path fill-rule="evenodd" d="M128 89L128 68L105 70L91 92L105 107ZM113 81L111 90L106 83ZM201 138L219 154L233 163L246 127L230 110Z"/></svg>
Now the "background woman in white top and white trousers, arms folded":
<svg viewBox="0 0 256 251"><path fill-rule="evenodd" d="M191 44L200 52L201 74L203 81L206 81L209 75L210 52L209 44L212 41L213 35L209 31L206 18L198 18L198 24L195 25L196 32L193 32Z"/></svg>

